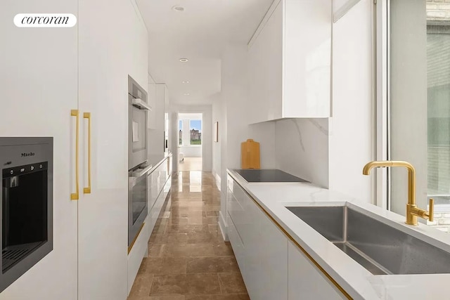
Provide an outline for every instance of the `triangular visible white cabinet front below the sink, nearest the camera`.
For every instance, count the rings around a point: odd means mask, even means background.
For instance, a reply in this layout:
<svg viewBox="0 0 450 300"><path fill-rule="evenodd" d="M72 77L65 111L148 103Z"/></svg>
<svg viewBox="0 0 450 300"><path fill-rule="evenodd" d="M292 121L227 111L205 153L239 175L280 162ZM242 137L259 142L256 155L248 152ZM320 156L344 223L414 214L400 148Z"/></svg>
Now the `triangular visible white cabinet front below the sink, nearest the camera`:
<svg viewBox="0 0 450 300"><path fill-rule="evenodd" d="M289 241L289 300L347 299L328 278Z"/></svg>

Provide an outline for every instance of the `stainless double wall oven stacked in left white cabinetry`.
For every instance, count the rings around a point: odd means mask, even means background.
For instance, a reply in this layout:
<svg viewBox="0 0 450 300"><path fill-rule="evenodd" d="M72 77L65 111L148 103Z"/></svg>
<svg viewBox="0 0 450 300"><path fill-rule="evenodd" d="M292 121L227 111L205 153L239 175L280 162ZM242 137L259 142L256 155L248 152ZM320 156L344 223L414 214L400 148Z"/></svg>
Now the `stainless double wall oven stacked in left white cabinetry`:
<svg viewBox="0 0 450 300"><path fill-rule="evenodd" d="M131 77L128 77L128 246L131 246L148 214L147 174L148 165L147 93Z"/></svg>

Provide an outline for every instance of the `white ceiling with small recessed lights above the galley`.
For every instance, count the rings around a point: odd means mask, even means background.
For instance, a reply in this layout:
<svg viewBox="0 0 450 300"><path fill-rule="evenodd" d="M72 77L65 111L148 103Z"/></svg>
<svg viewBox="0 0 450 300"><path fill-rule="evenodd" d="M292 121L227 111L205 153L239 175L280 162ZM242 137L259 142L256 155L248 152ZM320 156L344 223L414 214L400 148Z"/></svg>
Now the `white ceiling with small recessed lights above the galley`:
<svg viewBox="0 0 450 300"><path fill-rule="evenodd" d="M148 29L151 76L167 84L173 103L210 103L220 92L224 46L228 41L246 43L272 1L136 0ZM173 6L183 6L184 11L174 11ZM180 63L180 58L189 61Z"/></svg>

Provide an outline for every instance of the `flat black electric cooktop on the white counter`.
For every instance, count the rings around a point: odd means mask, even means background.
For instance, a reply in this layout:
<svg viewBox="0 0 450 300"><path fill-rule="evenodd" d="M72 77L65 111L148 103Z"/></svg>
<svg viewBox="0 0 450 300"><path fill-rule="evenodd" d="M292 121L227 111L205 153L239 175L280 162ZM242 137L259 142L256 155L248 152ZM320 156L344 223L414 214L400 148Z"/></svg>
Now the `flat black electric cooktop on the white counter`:
<svg viewBox="0 0 450 300"><path fill-rule="evenodd" d="M278 169L235 169L247 182L309 182Z"/></svg>

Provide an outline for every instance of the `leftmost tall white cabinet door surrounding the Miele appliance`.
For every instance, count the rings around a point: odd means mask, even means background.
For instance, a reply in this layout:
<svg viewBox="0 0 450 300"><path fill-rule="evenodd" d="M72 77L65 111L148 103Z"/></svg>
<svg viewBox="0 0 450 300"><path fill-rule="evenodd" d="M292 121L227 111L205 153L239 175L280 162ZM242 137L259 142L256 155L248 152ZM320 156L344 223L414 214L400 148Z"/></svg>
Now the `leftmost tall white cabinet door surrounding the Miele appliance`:
<svg viewBox="0 0 450 300"><path fill-rule="evenodd" d="M0 136L53 137L53 250L1 300L77 299L77 27L18 28L18 13L72 13L77 0L0 1Z"/></svg>

